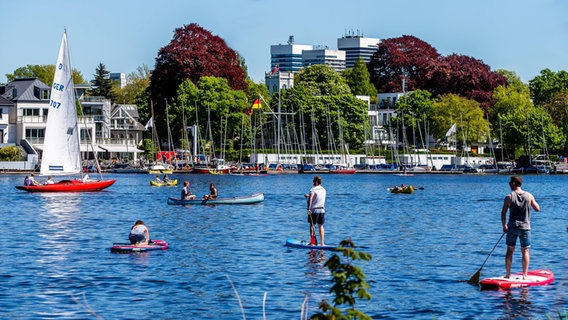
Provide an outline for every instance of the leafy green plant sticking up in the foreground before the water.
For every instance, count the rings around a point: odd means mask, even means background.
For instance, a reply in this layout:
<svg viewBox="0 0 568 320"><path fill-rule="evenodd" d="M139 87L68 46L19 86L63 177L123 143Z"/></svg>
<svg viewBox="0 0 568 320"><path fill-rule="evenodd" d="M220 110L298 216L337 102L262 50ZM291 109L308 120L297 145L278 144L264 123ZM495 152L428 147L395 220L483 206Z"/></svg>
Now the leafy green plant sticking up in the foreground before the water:
<svg viewBox="0 0 568 320"><path fill-rule="evenodd" d="M371 300L371 294L367 289L370 288L369 283L365 280L367 276L353 262L357 260L369 261L372 259L370 254L355 250L353 241L343 240L340 243L340 251L345 260L334 254L326 261L325 266L331 271L332 286L330 293L335 295L333 306L323 300L319 307L324 313L317 313L310 319L368 319L361 310L355 308L357 299ZM347 306L347 310L342 311L340 307Z"/></svg>

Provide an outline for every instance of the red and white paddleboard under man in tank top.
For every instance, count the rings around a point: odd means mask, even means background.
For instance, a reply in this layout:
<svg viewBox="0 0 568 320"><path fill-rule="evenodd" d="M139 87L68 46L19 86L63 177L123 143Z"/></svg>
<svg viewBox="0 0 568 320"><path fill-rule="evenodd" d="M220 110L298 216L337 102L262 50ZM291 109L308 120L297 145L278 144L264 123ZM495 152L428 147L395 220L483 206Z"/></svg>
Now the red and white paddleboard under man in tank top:
<svg viewBox="0 0 568 320"><path fill-rule="evenodd" d="M523 273L511 274L509 278L493 277L485 278L479 282L481 289L511 289L531 286L543 286L554 282L554 274L548 269L533 270L528 272L527 279L523 279Z"/></svg>

